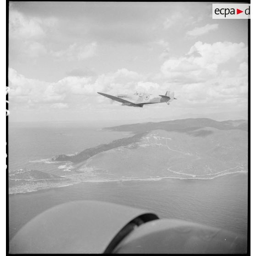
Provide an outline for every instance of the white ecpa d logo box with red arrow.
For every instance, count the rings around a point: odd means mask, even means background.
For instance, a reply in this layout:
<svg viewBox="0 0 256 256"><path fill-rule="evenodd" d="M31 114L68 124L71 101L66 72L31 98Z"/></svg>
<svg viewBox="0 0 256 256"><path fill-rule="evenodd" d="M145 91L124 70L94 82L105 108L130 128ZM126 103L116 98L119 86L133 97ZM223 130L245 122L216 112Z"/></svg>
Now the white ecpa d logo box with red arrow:
<svg viewBox="0 0 256 256"><path fill-rule="evenodd" d="M212 4L213 19L250 19L250 4Z"/></svg>

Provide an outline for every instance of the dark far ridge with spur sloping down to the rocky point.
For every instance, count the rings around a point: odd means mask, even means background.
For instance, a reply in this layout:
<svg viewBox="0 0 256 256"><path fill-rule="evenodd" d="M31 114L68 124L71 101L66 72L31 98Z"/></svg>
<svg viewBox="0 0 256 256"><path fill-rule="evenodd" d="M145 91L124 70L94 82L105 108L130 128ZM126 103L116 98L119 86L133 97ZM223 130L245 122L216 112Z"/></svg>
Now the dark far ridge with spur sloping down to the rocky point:
<svg viewBox="0 0 256 256"><path fill-rule="evenodd" d="M142 136L153 130L175 131L178 133L187 133L193 136L207 136L213 133L211 130L200 130L200 128L211 127L218 130L242 130L247 131L248 124L246 120L228 120L218 122L209 118L189 118L166 122L145 122L115 127L105 128L112 131L127 131L135 133L134 136L113 140L109 144L101 144L94 148L88 148L75 156L57 155L52 158L53 161L71 161L73 163L83 162L90 157L101 152L118 147L127 146L138 142Z"/></svg>

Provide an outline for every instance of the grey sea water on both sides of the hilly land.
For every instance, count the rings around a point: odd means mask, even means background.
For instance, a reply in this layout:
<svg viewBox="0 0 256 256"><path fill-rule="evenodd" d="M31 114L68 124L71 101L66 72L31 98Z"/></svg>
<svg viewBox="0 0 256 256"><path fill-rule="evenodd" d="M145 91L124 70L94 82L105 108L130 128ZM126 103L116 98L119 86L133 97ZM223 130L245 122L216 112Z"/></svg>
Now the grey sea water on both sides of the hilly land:
<svg viewBox="0 0 256 256"><path fill-rule="evenodd" d="M74 155L86 148L131 136L104 130L104 126L108 123L95 126L9 123L9 171L34 169L67 175L68 169L52 157ZM13 193L9 195L9 238L39 213L74 200L113 202L146 209L161 218L182 219L247 234L248 173L244 172L209 179L84 180L68 186Z"/></svg>

